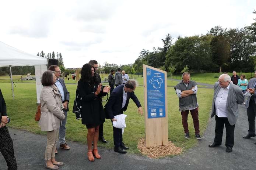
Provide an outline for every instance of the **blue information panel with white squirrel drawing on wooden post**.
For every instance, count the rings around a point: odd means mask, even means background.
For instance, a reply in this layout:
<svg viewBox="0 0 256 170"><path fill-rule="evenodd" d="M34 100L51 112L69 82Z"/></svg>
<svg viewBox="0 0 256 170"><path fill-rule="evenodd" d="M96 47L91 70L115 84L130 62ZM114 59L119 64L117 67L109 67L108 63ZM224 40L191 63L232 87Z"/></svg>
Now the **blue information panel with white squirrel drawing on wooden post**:
<svg viewBox="0 0 256 170"><path fill-rule="evenodd" d="M147 68L148 118L165 117L165 75Z"/></svg>

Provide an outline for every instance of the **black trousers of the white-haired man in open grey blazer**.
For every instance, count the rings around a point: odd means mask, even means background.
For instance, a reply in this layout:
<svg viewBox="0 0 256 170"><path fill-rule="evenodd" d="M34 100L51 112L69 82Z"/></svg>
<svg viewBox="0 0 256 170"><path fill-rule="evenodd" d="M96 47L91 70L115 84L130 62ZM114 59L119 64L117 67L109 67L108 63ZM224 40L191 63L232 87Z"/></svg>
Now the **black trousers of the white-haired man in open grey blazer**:
<svg viewBox="0 0 256 170"><path fill-rule="evenodd" d="M234 130L235 130L235 124L231 125L228 122L227 117L218 117L215 115L215 138L214 142L217 145L221 145L222 142L222 135L223 135L223 129L224 129L224 124L226 128L226 147L233 148L234 146Z"/></svg>

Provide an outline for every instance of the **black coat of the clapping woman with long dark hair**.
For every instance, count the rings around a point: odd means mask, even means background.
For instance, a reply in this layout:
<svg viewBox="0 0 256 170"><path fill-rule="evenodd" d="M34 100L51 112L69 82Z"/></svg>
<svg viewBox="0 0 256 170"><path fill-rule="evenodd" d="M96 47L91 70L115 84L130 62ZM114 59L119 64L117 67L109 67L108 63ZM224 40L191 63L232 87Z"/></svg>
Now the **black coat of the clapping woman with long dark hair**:
<svg viewBox="0 0 256 170"><path fill-rule="evenodd" d="M81 100L82 124L100 125L105 122L105 112L101 102L101 97L105 93L101 90L101 93L95 97L98 85L98 82L91 86L88 82L78 81L77 88Z"/></svg>

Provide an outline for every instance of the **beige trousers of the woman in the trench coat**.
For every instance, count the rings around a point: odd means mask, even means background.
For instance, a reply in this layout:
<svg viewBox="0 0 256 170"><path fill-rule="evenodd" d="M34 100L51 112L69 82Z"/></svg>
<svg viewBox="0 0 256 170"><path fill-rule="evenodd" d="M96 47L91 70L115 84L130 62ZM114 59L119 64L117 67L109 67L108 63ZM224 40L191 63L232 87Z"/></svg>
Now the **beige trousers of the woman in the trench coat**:
<svg viewBox="0 0 256 170"><path fill-rule="evenodd" d="M56 143L58 140L59 129L47 132L47 145L45 148L45 160L55 157Z"/></svg>

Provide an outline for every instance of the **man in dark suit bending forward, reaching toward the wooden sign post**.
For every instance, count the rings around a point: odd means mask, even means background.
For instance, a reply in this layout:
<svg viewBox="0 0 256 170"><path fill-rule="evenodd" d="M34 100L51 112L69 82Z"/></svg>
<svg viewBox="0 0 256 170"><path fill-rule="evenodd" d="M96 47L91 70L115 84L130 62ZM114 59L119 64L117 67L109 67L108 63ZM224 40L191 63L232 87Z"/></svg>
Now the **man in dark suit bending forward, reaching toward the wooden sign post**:
<svg viewBox="0 0 256 170"><path fill-rule="evenodd" d="M113 90L107 104L105 105L105 113L112 122L117 121L114 116L120 115L123 111L126 111L130 98L137 105L138 112L143 115L143 109L141 108L140 101L138 101L138 98L134 94L136 86L137 82L131 79ZM122 129L113 127L113 137L115 145L114 151L118 153L126 153L126 149L129 148L123 143Z"/></svg>

